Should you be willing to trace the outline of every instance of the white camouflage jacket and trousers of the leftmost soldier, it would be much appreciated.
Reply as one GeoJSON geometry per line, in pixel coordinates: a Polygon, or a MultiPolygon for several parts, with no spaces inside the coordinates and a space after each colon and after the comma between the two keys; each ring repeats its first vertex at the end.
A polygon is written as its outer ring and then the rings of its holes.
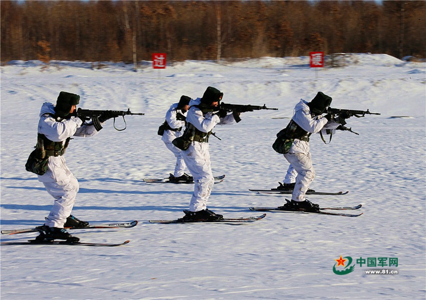
{"type": "MultiPolygon", "coordinates": [[[[55,105],[48,102],[43,104],[40,111],[38,133],[44,134],[52,141],[65,143],[65,140],[73,135],[84,137],[98,133],[93,125],[82,125],[82,120],[78,117],[57,122],[47,113],[55,114],[55,105]]],[[[63,156],[49,157],[48,171],[38,177],[39,181],[46,187],[47,192],[55,198],[45,225],[63,228],[74,207],[76,195],[79,191],[78,181],[68,169],[63,156]]]]}

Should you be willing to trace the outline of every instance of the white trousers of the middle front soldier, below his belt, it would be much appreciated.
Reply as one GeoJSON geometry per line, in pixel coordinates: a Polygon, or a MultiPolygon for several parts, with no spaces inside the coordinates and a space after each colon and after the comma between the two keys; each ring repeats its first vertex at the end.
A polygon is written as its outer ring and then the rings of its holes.
{"type": "Polygon", "coordinates": [[[194,193],[189,203],[192,212],[207,208],[208,197],[215,184],[211,171],[208,143],[193,141],[186,151],[182,151],[186,167],[194,178],[194,193]]]}

